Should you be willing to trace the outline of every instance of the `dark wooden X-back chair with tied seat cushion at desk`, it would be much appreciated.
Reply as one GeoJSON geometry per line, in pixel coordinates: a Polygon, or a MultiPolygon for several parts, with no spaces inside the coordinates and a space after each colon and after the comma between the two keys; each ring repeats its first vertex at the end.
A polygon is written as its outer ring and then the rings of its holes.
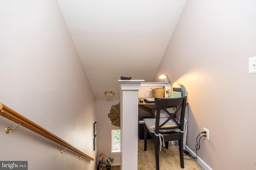
{"type": "Polygon", "coordinates": [[[186,109],[187,96],[181,98],[155,98],[157,105],[156,118],[144,119],[144,151],[147,150],[147,134],[154,139],[156,170],[159,170],[159,142],[168,149],[168,141],[179,141],[180,167],[184,168],[183,158],[183,127],[186,109]],[[170,113],[167,108],[175,107],[174,113],[170,113]],[[166,111],[170,115],[168,118],[160,118],[160,112],[166,111]],[[180,121],[176,119],[176,113],[180,113],[180,121]]]}

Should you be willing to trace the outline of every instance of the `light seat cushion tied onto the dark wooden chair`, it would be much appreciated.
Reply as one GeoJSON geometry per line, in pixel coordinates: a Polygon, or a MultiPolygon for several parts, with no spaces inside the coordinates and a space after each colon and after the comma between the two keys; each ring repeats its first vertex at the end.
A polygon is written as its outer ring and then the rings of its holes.
{"type": "MultiPolygon", "coordinates": [[[[147,126],[147,128],[148,128],[148,130],[151,132],[151,133],[154,133],[154,131],[155,131],[155,127],[156,127],[156,119],[143,119],[144,120],[144,123],[145,123],[145,125],[147,126]]],[[[164,121],[166,121],[167,120],[167,118],[163,118],[163,119],[160,119],[160,125],[162,124],[162,123],[164,123],[164,121]]],[[[171,121],[171,120],[169,120],[164,126],[162,126],[162,127],[173,127],[173,126],[176,126],[176,124],[173,122],[173,121],[171,121]]],[[[166,129],[166,130],[160,130],[159,129],[159,132],[162,132],[162,133],[166,133],[166,132],[179,132],[179,129],[177,128],[177,129],[166,129]]]]}

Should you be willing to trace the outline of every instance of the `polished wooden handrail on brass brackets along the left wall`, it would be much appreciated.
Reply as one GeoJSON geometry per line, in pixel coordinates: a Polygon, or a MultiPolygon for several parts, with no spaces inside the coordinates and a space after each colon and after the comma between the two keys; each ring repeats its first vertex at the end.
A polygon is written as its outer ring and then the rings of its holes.
{"type": "Polygon", "coordinates": [[[60,139],[56,135],[50,133],[46,129],[42,128],[41,126],[37,125],[33,121],[27,119],[26,117],[22,116],[21,114],[17,113],[16,111],[12,110],[11,108],[5,106],[4,104],[0,103],[0,115],[5,117],[6,119],[9,119],[15,123],[20,124],[23,127],[26,127],[27,129],[38,133],[39,135],[42,135],[43,137],[46,137],[47,139],[50,139],[51,141],[54,141],[55,143],[58,143],[62,145],[63,147],[72,150],[73,152],[76,152],[80,156],[83,156],[84,158],[87,158],[89,160],[94,160],[94,158],[88,156],[84,152],[81,152],[80,150],[76,149],[66,141],[60,139]]]}

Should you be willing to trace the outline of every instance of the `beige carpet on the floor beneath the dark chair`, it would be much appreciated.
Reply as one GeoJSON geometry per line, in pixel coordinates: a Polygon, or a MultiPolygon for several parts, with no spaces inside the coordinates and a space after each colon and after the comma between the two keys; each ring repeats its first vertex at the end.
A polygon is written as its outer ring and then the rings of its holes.
{"type": "MultiPolygon", "coordinates": [[[[189,158],[184,156],[184,158],[189,158]]],[[[160,170],[204,170],[196,160],[184,159],[184,169],[180,168],[179,149],[176,146],[169,146],[168,149],[162,147],[159,152],[160,170]]],[[[138,140],[138,170],[155,170],[155,149],[154,141],[148,140],[147,151],[144,151],[144,140],[138,140]]]]}

